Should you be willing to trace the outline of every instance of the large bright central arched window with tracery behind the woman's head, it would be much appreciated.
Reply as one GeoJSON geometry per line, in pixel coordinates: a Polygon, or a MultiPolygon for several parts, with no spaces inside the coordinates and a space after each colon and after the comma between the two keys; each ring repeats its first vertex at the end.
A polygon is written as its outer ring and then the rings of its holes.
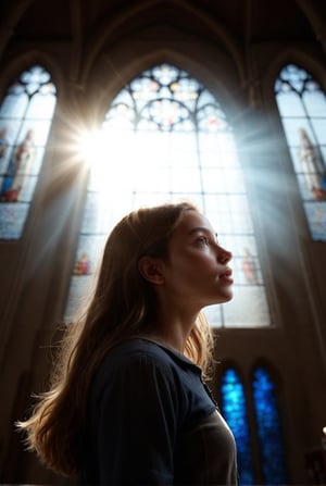
{"type": "Polygon", "coordinates": [[[241,164],[227,117],[205,87],[171,64],[113,100],[89,150],[90,179],[67,315],[88,287],[112,225],[130,210],[187,199],[234,254],[235,298],[208,308],[212,326],[266,326],[269,312],[241,164]],[[98,150],[98,149],[101,150],[98,150]]]}

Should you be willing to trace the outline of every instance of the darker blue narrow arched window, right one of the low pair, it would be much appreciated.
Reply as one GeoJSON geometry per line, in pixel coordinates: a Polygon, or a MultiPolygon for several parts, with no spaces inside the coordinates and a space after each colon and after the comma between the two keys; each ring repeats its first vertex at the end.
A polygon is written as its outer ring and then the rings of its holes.
{"type": "Polygon", "coordinates": [[[255,370],[252,387],[264,484],[288,484],[275,383],[264,367],[255,370]]]}

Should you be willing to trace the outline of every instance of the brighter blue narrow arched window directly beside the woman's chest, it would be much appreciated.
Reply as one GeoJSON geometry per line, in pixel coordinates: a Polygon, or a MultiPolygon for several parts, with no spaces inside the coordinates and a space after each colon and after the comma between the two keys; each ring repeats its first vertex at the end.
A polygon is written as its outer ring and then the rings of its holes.
{"type": "Polygon", "coordinates": [[[247,418],[244,390],[234,369],[224,372],[221,384],[222,412],[231,428],[238,449],[238,469],[241,485],[254,484],[251,441],[247,418]]]}

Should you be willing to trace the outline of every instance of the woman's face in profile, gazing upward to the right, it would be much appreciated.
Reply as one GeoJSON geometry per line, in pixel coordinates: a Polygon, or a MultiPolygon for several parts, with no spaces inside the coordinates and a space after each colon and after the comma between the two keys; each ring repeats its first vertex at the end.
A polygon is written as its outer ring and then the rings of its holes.
{"type": "Polygon", "coordinates": [[[209,220],[195,210],[184,216],[168,242],[165,288],[198,308],[233,298],[231,253],[218,245],[209,220]]]}

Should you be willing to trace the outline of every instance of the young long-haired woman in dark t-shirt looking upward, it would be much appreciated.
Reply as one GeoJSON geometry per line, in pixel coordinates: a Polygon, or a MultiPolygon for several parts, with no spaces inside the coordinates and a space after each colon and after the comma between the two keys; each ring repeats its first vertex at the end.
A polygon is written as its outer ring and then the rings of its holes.
{"type": "Polygon", "coordinates": [[[237,484],[235,440],[203,382],[200,312],[231,299],[230,259],[189,203],[114,227],[50,390],[18,423],[49,468],[92,485],[237,484]]]}

